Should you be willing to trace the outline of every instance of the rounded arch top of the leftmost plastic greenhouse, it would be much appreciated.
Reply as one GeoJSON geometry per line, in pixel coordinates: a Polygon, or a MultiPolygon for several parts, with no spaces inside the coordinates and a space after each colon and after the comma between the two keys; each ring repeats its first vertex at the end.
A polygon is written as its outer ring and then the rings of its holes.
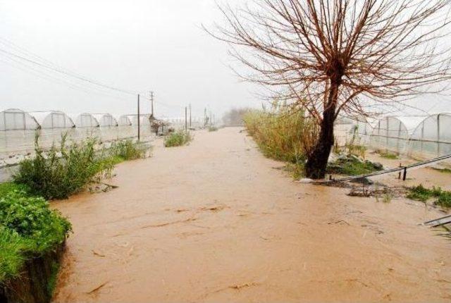
{"type": "Polygon", "coordinates": [[[0,130],[37,130],[39,123],[21,109],[6,109],[0,111],[0,130]]]}

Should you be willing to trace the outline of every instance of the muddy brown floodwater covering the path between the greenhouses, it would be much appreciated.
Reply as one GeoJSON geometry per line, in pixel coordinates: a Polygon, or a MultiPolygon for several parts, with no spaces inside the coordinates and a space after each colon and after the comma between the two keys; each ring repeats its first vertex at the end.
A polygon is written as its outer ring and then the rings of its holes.
{"type": "Polygon", "coordinates": [[[122,163],[53,206],[73,235],[54,302],[449,302],[438,211],[294,183],[240,128],[122,163]]]}

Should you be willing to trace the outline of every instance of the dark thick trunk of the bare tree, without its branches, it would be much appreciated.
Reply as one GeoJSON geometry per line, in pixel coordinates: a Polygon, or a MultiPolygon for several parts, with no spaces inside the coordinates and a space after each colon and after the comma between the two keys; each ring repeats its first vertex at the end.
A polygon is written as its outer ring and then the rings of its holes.
{"type": "Polygon", "coordinates": [[[323,111],[323,120],[319,132],[318,141],[307,158],[305,174],[307,178],[322,179],[326,175],[327,161],[330,150],[333,147],[333,126],[335,123],[335,109],[338,98],[339,85],[331,85],[328,97],[328,105],[323,111]]]}

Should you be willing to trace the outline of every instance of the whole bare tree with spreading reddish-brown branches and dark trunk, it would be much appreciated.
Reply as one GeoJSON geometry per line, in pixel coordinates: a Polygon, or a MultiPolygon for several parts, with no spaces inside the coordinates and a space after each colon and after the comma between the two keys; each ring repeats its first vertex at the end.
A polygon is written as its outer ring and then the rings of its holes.
{"type": "Polygon", "coordinates": [[[323,178],[339,113],[445,89],[450,79],[450,0],[254,0],[219,6],[211,35],[267,87],[319,124],[306,173],[323,178]],[[441,44],[439,44],[440,42],[441,44]],[[442,83],[440,83],[442,82],[442,83]]]}

